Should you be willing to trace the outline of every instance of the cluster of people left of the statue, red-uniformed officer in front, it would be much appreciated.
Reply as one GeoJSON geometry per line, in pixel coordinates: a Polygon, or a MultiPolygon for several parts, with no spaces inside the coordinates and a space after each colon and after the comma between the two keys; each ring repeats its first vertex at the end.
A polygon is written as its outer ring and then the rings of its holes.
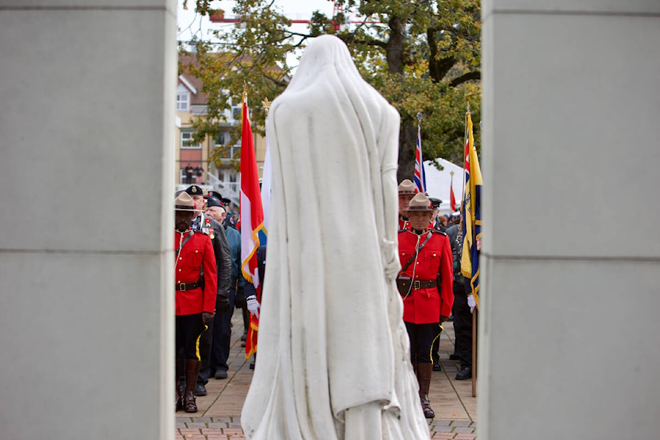
{"type": "Polygon", "coordinates": [[[175,195],[176,409],[197,412],[210,377],[226,379],[234,307],[248,332],[241,234],[217,192],[191,185],[175,195]]]}

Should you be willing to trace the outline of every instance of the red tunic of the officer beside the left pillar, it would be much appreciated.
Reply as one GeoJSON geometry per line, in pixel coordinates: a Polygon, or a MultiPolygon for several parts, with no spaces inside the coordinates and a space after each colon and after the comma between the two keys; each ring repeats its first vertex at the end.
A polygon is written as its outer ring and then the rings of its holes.
{"type": "Polygon", "coordinates": [[[176,314],[194,315],[203,311],[214,313],[217,289],[217,267],[213,245],[208,235],[195,232],[183,245],[181,252],[177,252],[179,243],[186,241],[189,232],[174,232],[174,254],[177,264],[174,268],[176,283],[195,283],[199,280],[199,268],[203,268],[204,289],[176,291],[176,314]],[[178,254],[178,255],[177,255],[178,254]]]}

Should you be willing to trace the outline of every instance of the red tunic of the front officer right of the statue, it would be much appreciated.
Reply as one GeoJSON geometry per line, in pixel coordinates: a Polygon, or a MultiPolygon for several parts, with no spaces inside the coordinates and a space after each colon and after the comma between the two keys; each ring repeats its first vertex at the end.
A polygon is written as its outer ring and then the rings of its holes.
{"type": "MultiPolygon", "coordinates": [[[[426,240],[428,229],[420,236],[410,230],[399,231],[399,261],[404,267],[415,254],[415,250],[426,240]],[[418,240],[419,238],[419,240],[418,240]]],[[[404,321],[412,324],[432,324],[440,322],[440,316],[450,316],[454,304],[454,273],[452,270],[452,248],[449,239],[442,232],[433,230],[431,239],[401,276],[409,276],[413,281],[431,281],[440,274],[440,288],[426,287],[410,289],[404,297],[404,321]],[[439,293],[439,292],[440,293],[439,293]]]]}

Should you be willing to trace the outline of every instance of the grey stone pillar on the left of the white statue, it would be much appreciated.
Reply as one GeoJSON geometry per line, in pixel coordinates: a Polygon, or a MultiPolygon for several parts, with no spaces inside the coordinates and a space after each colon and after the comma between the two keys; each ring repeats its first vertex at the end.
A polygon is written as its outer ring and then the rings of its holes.
{"type": "Polygon", "coordinates": [[[173,436],[175,8],[0,6],[0,437],[173,436]]]}

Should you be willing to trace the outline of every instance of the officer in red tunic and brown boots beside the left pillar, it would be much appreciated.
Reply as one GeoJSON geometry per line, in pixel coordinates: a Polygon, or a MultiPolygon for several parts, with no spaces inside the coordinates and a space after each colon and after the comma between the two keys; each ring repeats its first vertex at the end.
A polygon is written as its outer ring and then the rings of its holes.
{"type": "Polygon", "coordinates": [[[199,337],[206,323],[213,319],[217,296],[217,266],[208,235],[190,229],[195,217],[195,201],[181,192],[175,203],[175,281],[176,343],[175,353],[184,350],[186,388],[179,391],[177,365],[177,410],[197,412],[195,384],[199,374],[199,337]]]}

